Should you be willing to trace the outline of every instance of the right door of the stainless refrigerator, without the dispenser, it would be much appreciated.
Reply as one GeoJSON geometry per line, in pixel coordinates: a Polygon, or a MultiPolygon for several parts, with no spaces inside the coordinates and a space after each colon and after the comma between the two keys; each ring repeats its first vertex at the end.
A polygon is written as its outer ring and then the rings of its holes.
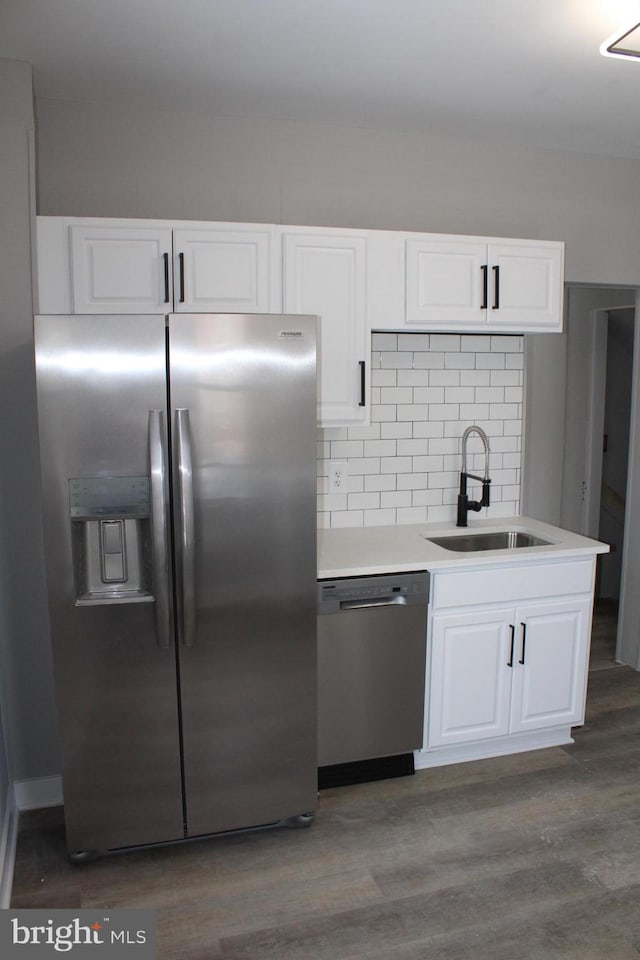
{"type": "Polygon", "coordinates": [[[317,804],[315,317],[172,315],[190,836],[317,804]]]}

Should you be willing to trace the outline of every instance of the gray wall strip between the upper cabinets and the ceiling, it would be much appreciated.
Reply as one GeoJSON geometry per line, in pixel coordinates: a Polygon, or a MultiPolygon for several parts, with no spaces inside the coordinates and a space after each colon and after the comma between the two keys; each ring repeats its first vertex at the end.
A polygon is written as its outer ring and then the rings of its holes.
{"type": "Polygon", "coordinates": [[[640,282],[640,163],[439,136],[37,102],[38,212],[567,242],[573,282],[640,282]]]}

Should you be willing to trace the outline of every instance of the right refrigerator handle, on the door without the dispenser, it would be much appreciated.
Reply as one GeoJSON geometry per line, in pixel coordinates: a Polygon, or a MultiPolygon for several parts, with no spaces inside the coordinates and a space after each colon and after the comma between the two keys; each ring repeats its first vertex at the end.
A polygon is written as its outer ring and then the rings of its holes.
{"type": "Polygon", "coordinates": [[[195,515],[189,410],[176,410],[176,446],[180,510],[182,627],[180,641],[192,647],[196,636],[195,515]]]}

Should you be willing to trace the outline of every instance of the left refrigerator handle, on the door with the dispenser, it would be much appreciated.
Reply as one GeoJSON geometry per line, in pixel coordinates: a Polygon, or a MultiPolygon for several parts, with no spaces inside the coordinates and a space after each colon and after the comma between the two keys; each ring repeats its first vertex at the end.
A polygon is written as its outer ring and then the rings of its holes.
{"type": "Polygon", "coordinates": [[[151,473],[151,542],[156,598],[156,637],[164,650],[171,646],[169,602],[169,544],[167,536],[167,457],[164,413],[149,411],[149,467],[151,473]]]}

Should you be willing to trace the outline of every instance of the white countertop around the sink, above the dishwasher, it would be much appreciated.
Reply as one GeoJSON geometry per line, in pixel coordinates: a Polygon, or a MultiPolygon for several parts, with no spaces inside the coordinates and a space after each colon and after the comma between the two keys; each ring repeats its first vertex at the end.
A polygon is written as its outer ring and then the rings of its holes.
{"type": "Polygon", "coordinates": [[[348,527],[318,530],[318,579],[358,577],[407,570],[448,570],[531,560],[560,560],[608,553],[609,545],[529,517],[473,520],[466,529],[455,524],[406,524],[395,527],[348,527]],[[515,550],[455,553],[430,543],[429,537],[522,530],[549,543],[515,550]]]}

